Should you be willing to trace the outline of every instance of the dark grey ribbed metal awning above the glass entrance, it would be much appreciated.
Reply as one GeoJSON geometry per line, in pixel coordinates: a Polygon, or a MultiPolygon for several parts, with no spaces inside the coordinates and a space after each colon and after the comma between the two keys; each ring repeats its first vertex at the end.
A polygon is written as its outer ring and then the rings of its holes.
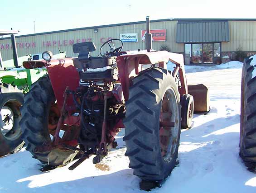
{"type": "Polygon", "coordinates": [[[228,21],[178,22],[176,42],[229,42],[228,21]]]}

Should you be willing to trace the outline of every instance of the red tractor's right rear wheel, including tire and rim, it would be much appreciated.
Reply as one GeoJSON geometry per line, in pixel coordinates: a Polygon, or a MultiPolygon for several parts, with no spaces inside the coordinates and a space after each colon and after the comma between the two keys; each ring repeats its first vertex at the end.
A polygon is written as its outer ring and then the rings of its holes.
{"type": "Polygon", "coordinates": [[[144,181],[162,181],[174,169],[181,128],[179,91],[165,69],[150,68],[135,77],[124,119],[126,156],[144,181]]]}

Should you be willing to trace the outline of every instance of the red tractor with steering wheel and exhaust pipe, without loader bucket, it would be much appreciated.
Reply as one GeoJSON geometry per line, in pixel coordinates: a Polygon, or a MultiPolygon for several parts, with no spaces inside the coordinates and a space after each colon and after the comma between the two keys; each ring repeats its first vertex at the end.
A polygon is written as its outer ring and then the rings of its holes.
{"type": "Polygon", "coordinates": [[[55,60],[47,51],[44,60],[23,63],[27,69],[48,70],[25,95],[21,109],[22,137],[34,158],[58,166],[80,152],[69,169],[90,155],[97,164],[117,146],[115,136],[125,128],[125,155],[134,174],[146,181],[168,177],[176,164],[180,129],[191,127],[193,96],[183,55],[153,51],[149,26],[147,17],[145,51],[122,52],[123,42],[111,39],[98,57],[90,56],[96,50],[93,42],[82,42],[73,45],[78,57],[55,60]],[[168,61],[176,65],[174,71],[166,69],[168,61]]]}

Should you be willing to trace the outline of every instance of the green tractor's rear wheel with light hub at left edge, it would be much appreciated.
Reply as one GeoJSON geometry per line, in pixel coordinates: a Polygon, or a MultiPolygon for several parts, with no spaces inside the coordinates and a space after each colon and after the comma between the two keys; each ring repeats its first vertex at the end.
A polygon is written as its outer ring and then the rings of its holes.
{"type": "Polygon", "coordinates": [[[22,90],[10,84],[0,84],[0,156],[22,146],[19,108],[23,101],[22,90]]]}

